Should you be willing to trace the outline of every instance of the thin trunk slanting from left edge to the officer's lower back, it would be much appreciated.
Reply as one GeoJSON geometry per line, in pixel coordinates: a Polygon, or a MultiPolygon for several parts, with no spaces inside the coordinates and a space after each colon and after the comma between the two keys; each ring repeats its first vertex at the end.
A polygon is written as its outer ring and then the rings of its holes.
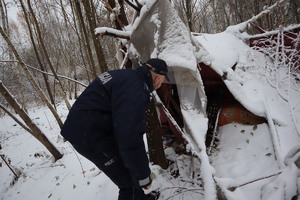
{"type": "Polygon", "coordinates": [[[31,82],[32,86],[37,91],[37,93],[39,94],[39,96],[41,97],[41,99],[46,103],[46,105],[48,106],[48,108],[51,110],[51,112],[54,115],[54,117],[55,117],[57,123],[59,124],[59,126],[62,127],[63,123],[62,123],[61,119],[59,118],[56,110],[54,109],[54,107],[52,106],[52,104],[49,102],[49,100],[47,99],[46,95],[44,94],[44,92],[42,91],[42,89],[39,87],[38,83],[35,81],[33,75],[30,73],[30,71],[27,68],[26,64],[24,63],[24,61],[22,60],[22,58],[18,54],[16,48],[14,47],[14,45],[12,44],[12,42],[10,41],[10,39],[7,37],[7,35],[4,33],[4,31],[3,31],[3,29],[1,27],[0,27],[0,33],[1,33],[2,37],[4,38],[4,40],[6,41],[6,43],[8,44],[8,47],[12,50],[12,52],[15,55],[15,57],[20,62],[20,66],[23,68],[23,70],[24,70],[25,74],[27,75],[27,78],[31,82]]]}

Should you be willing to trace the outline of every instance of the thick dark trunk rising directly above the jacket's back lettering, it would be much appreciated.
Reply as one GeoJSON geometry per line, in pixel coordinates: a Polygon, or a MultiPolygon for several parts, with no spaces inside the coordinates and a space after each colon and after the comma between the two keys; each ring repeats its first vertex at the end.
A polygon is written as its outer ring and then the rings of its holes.
{"type": "Polygon", "coordinates": [[[107,68],[107,63],[106,63],[106,60],[105,60],[105,57],[103,54],[102,46],[100,45],[100,41],[95,34],[95,28],[97,28],[96,15],[94,13],[94,9],[91,7],[92,4],[90,4],[89,0],[82,1],[82,3],[83,3],[83,7],[85,10],[86,16],[87,16],[90,33],[92,35],[93,44],[94,44],[95,51],[97,54],[99,69],[100,69],[100,72],[103,73],[103,72],[107,71],[108,68],[107,68]]]}

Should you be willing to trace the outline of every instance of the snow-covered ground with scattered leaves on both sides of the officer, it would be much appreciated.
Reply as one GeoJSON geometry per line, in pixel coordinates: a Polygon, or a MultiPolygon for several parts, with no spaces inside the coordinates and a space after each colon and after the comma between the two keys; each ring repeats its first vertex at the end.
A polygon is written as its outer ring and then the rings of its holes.
{"type": "MultiPolygon", "coordinates": [[[[62,119],[68,113],[63,105],[58,106],[58,112],[62,119]]],[[[117,199],[117,187],[93,163],[76,153],[67,142],[63,142],[58,125],[49,110],[39,107],[29,113],[64,156],[54,162],[50,153],[34,137],[16,125],[11,118],[1,118],[0,154],[10,161],[15,172],[21,172],[20,178],[14,181],[13,173],[1,161],[1,200],[117,199]]],[[[290,188],[290,184],[296,187],[293,181],[298,169],[291,165],[279,170],[266,124],[228,124],[220,127],[218,135],[220,143],[210,158],[216,171],[215,179],[221,186],[236,187],[281,172],[236,188],[234,192],[227,190],[227,197],[231,197],[229,199],[278,199],[279,194],[284,195],[277,191],[280,184],[287,184],[286,188],[290,188]],[[267,183],[274,185],[270,188],[267,183]],[[264,195],[262,198],[261,194],[264,195]],[[277,198],[272,198],[274,194],[277,198]]],[[[167,170],[151,166],[156,174],[151,189],[162,192],[160,200],[204,199],[197,159],[188,155],[175,155],[170,148],[166,152],[174,164],[167,170]]],[[[293,192],[289,194],[292,195],[293,192]]]]}

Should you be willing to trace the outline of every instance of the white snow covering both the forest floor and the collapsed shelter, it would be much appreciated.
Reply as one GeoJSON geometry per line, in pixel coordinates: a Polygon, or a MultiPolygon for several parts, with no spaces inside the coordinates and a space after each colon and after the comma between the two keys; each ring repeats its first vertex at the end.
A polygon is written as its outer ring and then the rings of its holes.
{"type": "MultiPolygon", "coordinates": [[[[155,1],[141,2],[144,5],[143,16],[155,1]]],[[[172,10],[167,10],[165,14],[174,16],[172,10]]],[[[159,37],[165,37],[165,40],[150,53],[151,56],[159,53],[159,57],[173,67],[185,120],[184,131],[192,133],[189,137],[194,142],[189,145],[193,145],[190,149],[196,149],[196,158],[175,155],[174,151],[166,149],[167,157],[174,163],[167,170],[150,165],[156,174],[151,190],[161,191],[160,200],[212,200],[216,199],[216,182],[232,200],[290,200],[300,191],[300,173],[294,164],[300,143],[299,89],[274,88],[270,84],[273,77],[264,71],[264,67],[272,66],[272,62],[245,44],[245,34],[239,33],[244,24],[229,27],[223,33],[191,37],[178,18],[171,19],[173,21],[169,24],[176,26],[164,27],[167,30],[164,36],[156,33],[155,44],[158,44],[159,37]],[[202,80],[196,70],[197,62],[210,65],[223,76],[234,97],[249,111],[265,117],[269,123],[220,127],[219,145],[209,157],[204,144],[207,130],[207,118],[203,113],[205,94],[202,93],[202,80]],[[234,65],[235,69],[232,68],[234,65]],[[197,156],[201,158],[201,163],[197,156]]],[[[123,32],[107,28],[97,31],[109,30],[131,36],[140,20],[137,19],[123,32]]],[[[158,15],[153,16],[152,22],[157,27],[161,26],[158,15]]],[[[133,47],[129,49],[135,51],[133,47]]],[[[139,52],[133,54],[138,55],[139,52]]],[[[281,70],[278,73],[287,72],[281,70]]],[[[299,83],[296,86],[299,88],[299,83]]],[[[65,119],[68,113],[66,107],[62,104],[57,108],[61,118],[65,119]]],[[[93,163],[63,142],[59,127],[46,108],[32,108],[29,114],[64,156],[54,162],[34,137],[9,117],[2,117],[0,154],[11,160],[10,165],[15,171],[19,170],[21,176],[12,184],[13,173],[0,161],[1,200],[117,199],[117,187],[93,163]]]]}

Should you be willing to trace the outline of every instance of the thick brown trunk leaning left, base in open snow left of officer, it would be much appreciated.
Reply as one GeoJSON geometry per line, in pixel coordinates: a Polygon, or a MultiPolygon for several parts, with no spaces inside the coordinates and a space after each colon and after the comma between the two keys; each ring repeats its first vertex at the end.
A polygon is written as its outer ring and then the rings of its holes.
{"type": "Polygon", "coordinates": [[[28,114],[21,108],[20,104],[13,98],[7,88],[0,81],[0,93],[4,96],[6,101],[13,107],[16,113],[23,119],[26,125],[31,129],[30,132],[36,139],[38,139],[53,155],[55,160],[62,158],[62,154],[56,149],[56,147],[48,140],[44,133],[36,126],[36,124],[30,119],[28,114]]]}

